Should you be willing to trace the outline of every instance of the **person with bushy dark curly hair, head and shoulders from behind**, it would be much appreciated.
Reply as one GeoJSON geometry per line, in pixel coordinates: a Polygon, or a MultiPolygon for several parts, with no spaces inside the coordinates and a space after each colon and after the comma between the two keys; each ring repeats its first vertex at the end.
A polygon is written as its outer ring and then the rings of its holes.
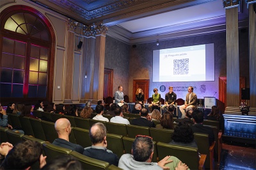
{"type": "Polygon", "coordinates": [[[194,140],[194,134],[191,127],[184,122],[180,122],[175,128],[172,135],[172,141],[169,144],[178,144],[197,148],[194,140]]]}

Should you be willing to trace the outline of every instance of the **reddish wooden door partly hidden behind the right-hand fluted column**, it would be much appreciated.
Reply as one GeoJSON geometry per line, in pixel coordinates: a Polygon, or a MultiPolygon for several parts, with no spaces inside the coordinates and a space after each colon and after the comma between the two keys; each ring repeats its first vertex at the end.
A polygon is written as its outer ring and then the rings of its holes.
{"type": "MultiPolygon", "coordinates": [[[[241,103],[241,88],[245,88],[245,77],[239,78],[239,104],[241,103]]],[[[219,99],[227,107],[227,77],[219,77],[219,99]]]]}

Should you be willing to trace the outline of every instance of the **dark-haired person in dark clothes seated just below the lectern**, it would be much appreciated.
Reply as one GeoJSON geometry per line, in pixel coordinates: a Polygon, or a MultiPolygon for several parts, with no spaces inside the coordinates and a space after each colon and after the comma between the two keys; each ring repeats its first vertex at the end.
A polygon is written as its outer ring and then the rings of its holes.
{"type": "Polygon", "coordinates": [[[224,117],[220,112],[220,108],[216,105],[212,105],[212,111],[207,115],[207,120],[219,121],[220,130],[224,132],[224,117]]]}

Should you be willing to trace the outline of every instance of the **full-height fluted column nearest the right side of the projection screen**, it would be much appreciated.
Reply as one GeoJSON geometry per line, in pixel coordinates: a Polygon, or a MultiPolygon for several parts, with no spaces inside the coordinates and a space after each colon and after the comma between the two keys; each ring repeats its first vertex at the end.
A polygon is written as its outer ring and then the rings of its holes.
{"type": "Polygon", "coordinates": [[[239,1],[223,0],[226,13],[227,49],[227,107],[239,106],[239,45],[238,6],[239,1]]]}

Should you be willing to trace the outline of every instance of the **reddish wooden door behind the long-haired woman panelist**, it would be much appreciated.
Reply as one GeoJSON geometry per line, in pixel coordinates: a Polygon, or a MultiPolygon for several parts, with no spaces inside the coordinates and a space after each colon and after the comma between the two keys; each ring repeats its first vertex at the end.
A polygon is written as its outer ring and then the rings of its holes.
{"type": "Polygon", "coordinates": [[[144,99],[147,100],[147,98],[148,98],[148,89],[149,89],[149,79],[133,80],[132,102],[135,102],[135,94],[136,94],[136,90],[138,88],[141,88],[143,90],[144,99]]]}

